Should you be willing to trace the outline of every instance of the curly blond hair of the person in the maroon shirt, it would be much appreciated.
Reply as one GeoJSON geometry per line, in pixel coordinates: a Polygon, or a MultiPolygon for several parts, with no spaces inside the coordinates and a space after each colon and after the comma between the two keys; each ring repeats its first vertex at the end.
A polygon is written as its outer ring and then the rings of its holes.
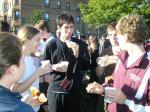
{"type": "Polygon", "coordinates": [[[138,14],[122,17],[116,29],[119,34],[128,34],[128,39],[132,43],[143,43],[148,37],[148,27],[144,18],[138,14]]]}

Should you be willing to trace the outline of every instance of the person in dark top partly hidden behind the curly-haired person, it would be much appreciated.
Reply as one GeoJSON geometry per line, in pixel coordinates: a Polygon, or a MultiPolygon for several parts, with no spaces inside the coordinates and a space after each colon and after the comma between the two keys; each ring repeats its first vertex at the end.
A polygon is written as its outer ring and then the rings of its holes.
{"type": "MultiPolygon", "coordinates": [[[[113,54],[113,47],[118,46],[117,41],[117,31],[116,31],[116,22],[113,22],[107,27],[107,40],[110,45],[107,48],[103,48],[99,58],[97,58],[98,66],[96,67],[96,74],[99,77],[99,83],[103,84],[112,82],[112,74],[115,69],[115,65],[117,62],[117,57],[113,54]],[[103,63],[99,63],[99,62],[103,63]]],[[[104,97],[100,96],[100,105],[104,104],[104,97]],[[103,99],[103,101],[102,101],[103,99]]],[[[107,107],[107,103],[105,102],[107,107]]],[[[101,109],[101,106],[99,106],[101,109]]],[[[99,110],[100,110],[99,109],[99,110]]],[[[101,112],[101,111],[99,111],[101,112]]]]}

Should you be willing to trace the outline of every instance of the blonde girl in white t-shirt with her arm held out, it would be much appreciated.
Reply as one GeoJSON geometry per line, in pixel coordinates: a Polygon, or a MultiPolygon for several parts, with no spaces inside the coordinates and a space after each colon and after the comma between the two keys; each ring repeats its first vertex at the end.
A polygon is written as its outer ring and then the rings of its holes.
{"type": "MultiPolygon", "coordinates": [[[[34,65],[33,57],[31,56],[37,50],[41,34],[32,26],[23,26],[18,32],[18,38],[22,42],[22,53],[25,56],[25,72],[18,84],[15,84],[13,91],[22,93],[23,101],[30,95],[29,88],[31,86],[39,89],[39,77],[51,71],[50,64],[39,67],[34,65]]],[[[36,102],[35,105],[40,105],[36,102]]],[[[35,112],[39,110],[39,106],[34,107],[35,112]]]]}

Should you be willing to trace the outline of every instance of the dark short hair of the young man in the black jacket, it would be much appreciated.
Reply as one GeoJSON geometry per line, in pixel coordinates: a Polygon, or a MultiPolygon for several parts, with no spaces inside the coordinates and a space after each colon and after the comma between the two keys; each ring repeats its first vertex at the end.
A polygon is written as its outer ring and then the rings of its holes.
{"type": "Polygon", "coordinates": [[[72,24],[74,24],[73,16],[72,15],[68,15],[68,14],[60,15],[58,17],[58,19],[57,19],[57,25],[59,25],[61,27],[65,23],[72,23],[72,24]]]}

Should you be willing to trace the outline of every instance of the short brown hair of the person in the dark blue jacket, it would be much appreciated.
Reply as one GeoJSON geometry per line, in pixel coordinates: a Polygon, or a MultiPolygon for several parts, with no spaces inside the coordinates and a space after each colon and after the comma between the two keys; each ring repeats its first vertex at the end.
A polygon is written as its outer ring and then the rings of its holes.
{"type": "Polygon", "coordinates": [[[0,78],[11,65],[19,66],[21,49],[21,42],[15,35],[0,33],[0,78]]]}

